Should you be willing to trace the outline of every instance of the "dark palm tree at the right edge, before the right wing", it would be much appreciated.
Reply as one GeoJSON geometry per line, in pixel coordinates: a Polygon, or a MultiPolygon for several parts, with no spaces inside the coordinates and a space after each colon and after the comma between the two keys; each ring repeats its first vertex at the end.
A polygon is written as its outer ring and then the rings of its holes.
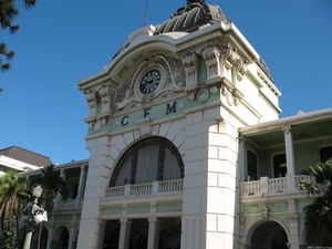
{"type": "Polygon", "coordinates": [[[319,246],[332,246],[332,159],[309,166],[302,170],[311,180],[300,180],[302,193],[313,197],[313,201],[303,208],[304,225],[309,231],[320,236],[319,246]]]}

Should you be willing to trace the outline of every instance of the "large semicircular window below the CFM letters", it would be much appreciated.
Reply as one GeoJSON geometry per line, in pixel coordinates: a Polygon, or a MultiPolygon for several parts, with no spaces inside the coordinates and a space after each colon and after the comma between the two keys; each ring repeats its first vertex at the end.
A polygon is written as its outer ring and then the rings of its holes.
{"type": "Polygon", "coordinates": [[[110,187],[184,178],[184,163],[173,143],[162,137],[143,139],[120,159],[110,187]]]}

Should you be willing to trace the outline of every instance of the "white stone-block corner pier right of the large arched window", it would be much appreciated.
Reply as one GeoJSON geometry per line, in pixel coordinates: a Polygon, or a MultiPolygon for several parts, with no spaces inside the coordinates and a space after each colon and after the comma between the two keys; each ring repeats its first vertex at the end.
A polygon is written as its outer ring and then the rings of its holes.
{"type": "Polygon", "coordinates": [[[226,121],[216,121],[217,116],[219,107],[187,116],[181,236],[185,249],[234,245],[237,129],[226,121]],[[220,205],[217,196],[227,199],[227,205],[220,205]]]}

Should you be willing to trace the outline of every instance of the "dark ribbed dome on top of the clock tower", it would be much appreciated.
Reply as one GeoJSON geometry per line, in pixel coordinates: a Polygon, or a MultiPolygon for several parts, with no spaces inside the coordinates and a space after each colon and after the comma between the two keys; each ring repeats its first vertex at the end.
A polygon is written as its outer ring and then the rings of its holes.
{"type": "Polygon", "coordinates": [[[215,22],[230,23],[218,6],[207,4],[205,0],[187,0],[187,7],[179,8],[169,20],[156,25],[154,34],[167,32],[194,32],[199,27],[215,22]]]}

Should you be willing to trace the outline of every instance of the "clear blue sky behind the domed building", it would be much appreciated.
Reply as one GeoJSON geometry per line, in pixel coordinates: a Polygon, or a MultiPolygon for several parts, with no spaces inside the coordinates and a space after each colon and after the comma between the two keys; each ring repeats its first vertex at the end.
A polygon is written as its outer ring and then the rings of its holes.
{"type": "MultiPolygon", "coordinates": [[[[144,24],[145,0],[40,0],[22,8],[21,30],[0,41],[15,50],[0,74],[0,148],[17,145],[53,163],[89,157],[85,96],[77,81],[101,71],[144,24]]],[[[282,92],[280,117],[332,106],[331,0],[209,0],[219,6],[268,64],[282,92]]],[[[186,0],[148,0],[147,23],[186,0]]]]}

